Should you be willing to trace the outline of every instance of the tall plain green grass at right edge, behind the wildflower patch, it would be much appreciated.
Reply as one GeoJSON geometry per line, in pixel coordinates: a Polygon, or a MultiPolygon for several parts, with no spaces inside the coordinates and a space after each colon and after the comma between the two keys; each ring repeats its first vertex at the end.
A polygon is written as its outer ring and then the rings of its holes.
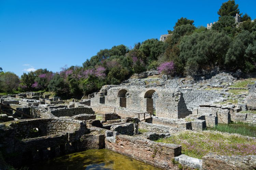
{"type": "Polygon", "coordinates": [[[244,136],[256,137],[256,127],[243,122],[232,122],[230,124],[218,123],[214,128],[207,128],[207,130],[237,133],[244,136]]]}

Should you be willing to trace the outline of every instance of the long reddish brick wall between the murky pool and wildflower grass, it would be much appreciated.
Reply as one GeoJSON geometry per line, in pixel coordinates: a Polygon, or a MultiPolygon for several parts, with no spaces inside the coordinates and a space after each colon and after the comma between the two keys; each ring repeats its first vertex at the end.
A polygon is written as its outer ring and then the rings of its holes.
{"type": "MultiPolygon", "coordinates": [[[[171,160],[181,154],[181,146],[157,143],[126,135],[115,136],[114,142],[105,139],[105,148],[162,169],[178,170],[171,160]]],[[[110,139],[111,140],[111,139],[110,139]]]]}

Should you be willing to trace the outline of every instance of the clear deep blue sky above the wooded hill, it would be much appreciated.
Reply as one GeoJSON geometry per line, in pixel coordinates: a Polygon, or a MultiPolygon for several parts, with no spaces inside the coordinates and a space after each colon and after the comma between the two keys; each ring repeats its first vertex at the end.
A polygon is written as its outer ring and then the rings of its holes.
{"type": "MultiPolygon", "coordinates": [[[[20,76],[39,68],[81,66],[100,49],[159,38],[181,17],[206,26],[218,20],[226,1],[0,0],[0,67],[20,76]]],[[[236,3],[256,18],[255,0],[236,3]]]]}

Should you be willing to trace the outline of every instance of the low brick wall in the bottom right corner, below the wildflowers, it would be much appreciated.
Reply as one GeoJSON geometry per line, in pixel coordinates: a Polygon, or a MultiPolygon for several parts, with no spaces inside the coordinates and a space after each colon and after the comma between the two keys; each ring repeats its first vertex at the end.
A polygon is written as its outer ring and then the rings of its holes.
{"type": "Polygon", "coordinates": [[[202,168],[205,170],[243,170],[256,168],[256,155],[248,156],[220,156],[207,155],[202,157],[202,168]]]}

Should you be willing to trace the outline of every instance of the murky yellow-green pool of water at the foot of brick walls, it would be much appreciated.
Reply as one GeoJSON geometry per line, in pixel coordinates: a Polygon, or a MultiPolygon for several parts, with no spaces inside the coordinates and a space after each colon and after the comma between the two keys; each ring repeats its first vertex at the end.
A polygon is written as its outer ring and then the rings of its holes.
{"type": "Polygon", "coordinates": [[[155,170],[121,154],[101,149],[64,155],[29,166],[29,170],[155,170]]]}

